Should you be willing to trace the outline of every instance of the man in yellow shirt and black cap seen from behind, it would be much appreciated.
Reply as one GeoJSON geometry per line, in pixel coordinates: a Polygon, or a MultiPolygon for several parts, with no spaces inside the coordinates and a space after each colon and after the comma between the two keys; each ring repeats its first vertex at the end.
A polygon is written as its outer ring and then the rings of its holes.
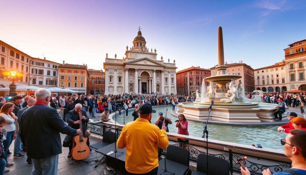
{"type": "Polygon", "coordinates": [[[162,149],[168,147],[167,127],[163,124],[160,130],[151,124],[152,112],[156,111],[150,104],[140,105],[139,118],[122,128],[117,146],[121,149],[126,147],[125,169],[128,174],[157,175],[157,146],[162,149]]]}

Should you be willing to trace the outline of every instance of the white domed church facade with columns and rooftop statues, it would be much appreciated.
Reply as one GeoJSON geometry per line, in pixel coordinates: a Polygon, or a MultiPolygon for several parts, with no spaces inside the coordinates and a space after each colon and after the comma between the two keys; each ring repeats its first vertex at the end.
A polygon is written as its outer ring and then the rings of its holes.
{"type": "Polygon", "coordinates": [[[105,63],[105,94],[158,93],[176,94],[175,60],[157,59],[156,49],[149,50],[139,29],[133,46],[126,46],[125,58],[108,58],[105,63]]]}

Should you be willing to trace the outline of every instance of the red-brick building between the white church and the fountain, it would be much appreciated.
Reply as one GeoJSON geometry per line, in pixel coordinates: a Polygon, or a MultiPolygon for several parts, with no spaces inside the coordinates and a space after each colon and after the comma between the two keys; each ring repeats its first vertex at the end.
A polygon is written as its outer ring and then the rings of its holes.
{"type": "MultiPolygon", "coordinates": [[[[192,94],[201,89],[203,78],[211,76],[211,70],[198,67],[189,67],[176,73],[177,93],[192,94]]],[[[209,82],[205,81],[206,86],[209,82]]]]}

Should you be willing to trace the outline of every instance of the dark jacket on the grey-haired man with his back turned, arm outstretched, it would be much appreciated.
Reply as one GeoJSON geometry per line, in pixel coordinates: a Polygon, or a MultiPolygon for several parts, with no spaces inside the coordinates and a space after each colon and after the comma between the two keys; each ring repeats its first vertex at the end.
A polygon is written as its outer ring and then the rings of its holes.
{"type": "Polygon", "coordinates": [[[27,156],[43,159],[62,153],[62,134],[76,135],[54,108],[35,104],[21,115],[20,138],[27,147],[27,156]]]}

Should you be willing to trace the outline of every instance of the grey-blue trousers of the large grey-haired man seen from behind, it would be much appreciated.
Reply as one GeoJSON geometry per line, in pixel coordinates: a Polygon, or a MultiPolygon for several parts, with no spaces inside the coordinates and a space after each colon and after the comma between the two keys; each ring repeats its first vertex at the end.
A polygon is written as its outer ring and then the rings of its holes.
{"type": "Polygon", "coordinates": [[[42,159],[32,159],[32,175],[54,175],[58,170],[58,154],[42,159]]]}

